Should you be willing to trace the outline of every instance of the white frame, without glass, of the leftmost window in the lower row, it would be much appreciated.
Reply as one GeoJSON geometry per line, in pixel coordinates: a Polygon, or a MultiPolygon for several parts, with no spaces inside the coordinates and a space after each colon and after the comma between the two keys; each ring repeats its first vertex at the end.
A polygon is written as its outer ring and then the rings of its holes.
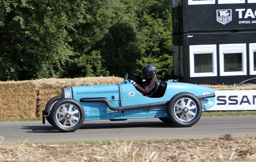
{"type": "Polygon", "coordinates": [[[205,77],[217,76],[217,45],[190,45],[189,46],[189,68],[190,77],[205,77]],[[212,72],[210,73],[195,73],[195,54],[212,53],[212,72]]]}

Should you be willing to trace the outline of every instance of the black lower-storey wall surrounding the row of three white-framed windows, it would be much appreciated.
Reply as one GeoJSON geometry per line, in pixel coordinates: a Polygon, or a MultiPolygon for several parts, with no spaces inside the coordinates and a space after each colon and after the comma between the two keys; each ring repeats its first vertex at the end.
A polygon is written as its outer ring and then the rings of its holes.
{"type": "MultiPolygon", "coordinates": [[[[249,43],[256,43],[256,32],[239,32],[239,33],[211,33],[211,34],[189,34],[183,35],[184,43],[184,82],[193,84],[239,84],[244,80],[256,78],[256,75],[250,75],[249,70],[249,43]],[[187,37],[193,36],[193,37],[187,37]],[[247,51],[247,75],[240,76],[220,76],[219,66],[219,45],[220,44],[237,44],[246,43],[247,51]],[[189,77],[189,45],[217,45],[217,76],[211,77],[189,77]]],[[[256,79],[251,82],[255,82],[256,79]]]]}

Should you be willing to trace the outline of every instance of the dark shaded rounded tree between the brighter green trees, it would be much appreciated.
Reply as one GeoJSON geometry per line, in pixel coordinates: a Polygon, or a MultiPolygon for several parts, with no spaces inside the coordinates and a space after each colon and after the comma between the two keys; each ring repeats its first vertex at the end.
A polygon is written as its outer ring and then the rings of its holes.
{"type": "Polygon", "coordinates": [[[123,76],[133,74],[136,70],[137,51],[136,34],[127,23],[114,24],[105,37],[96,45],[100,48],[102,65],[111,75],[123,76]]]}

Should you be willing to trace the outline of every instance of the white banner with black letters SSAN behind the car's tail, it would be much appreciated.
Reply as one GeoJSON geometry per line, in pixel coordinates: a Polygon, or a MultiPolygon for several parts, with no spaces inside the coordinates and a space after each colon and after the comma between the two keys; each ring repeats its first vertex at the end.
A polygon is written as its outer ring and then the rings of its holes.
{"type": "Polygon", "coordinates": [[[256,110],[256,90],[216,90],[215,95],[215,105],[209,111],[256,110]]]}

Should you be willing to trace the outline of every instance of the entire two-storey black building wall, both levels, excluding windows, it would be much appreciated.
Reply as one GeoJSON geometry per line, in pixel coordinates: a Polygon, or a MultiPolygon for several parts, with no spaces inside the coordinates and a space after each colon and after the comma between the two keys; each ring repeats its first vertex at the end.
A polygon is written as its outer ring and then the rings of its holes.
{"type": "Polygon", "coordinates": [[[173,44],[183,49],[183,77],[176,75],[175,79],[214,85],[238,84],[256,77],[249,73],[249,43],[256,43],[256,3],[218,4],[216,0],[216,4],[188,5],[188,0],[183,0],[181,4],[172,10],[173,44]],[[237,43],[246,43],[247,75],[220,76],[219,44],[237,43]],[[190,77],[189,45],[206,44],[217,45],[217,76],[190,77]]]}

